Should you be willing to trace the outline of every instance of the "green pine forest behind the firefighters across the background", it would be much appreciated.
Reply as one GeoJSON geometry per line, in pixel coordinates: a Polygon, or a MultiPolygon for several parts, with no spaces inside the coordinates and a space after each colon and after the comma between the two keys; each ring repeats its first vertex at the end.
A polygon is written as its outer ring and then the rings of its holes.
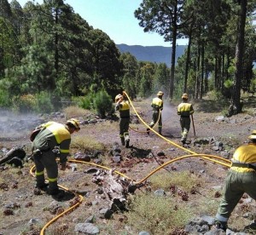
{"type": "Polygon", "coordinates": [[[122,90],[131,99],[163,90],[171,100],[183,92],[194,99],[211,92],[238,106],[241,89],[256,86],[255,9],[253,0],[142,1],[135,17],[144,32],[172,42],[169,68],[121,54],[65,1],[28,1],[21,8],[16,0],[2,0],[0,106],[51,112],[72,100],[104,114],[122,90]],[[189,44],[175,66],[180,37],[189,44]]]}

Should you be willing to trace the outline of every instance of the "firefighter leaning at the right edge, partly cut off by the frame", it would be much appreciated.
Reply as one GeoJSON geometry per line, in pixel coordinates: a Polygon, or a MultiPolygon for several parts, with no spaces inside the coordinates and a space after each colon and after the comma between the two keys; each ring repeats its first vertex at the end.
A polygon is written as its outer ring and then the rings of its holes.
{"type": "MultiPolygon", "coordinates": [[[[224,231],[230,214],[244,193],[256,200],[256,130],[253,130],[248,139],[249,143],[239,146],[234,152],[232,165],[225,179],[224,196],[215,218],[215,226],[224,231]]],[[[246,226],[245,231],[256,232],[256,221],[246,226]]]]}

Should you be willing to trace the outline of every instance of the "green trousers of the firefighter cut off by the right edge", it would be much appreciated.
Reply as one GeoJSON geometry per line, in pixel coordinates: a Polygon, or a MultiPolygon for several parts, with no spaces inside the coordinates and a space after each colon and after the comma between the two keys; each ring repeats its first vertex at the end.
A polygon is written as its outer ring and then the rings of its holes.
{"type": "Polygon", "coordinates": [[[224,198],[218,206],[217,221],[229,220],[244,192],[256,200],[256,172],[236,172],[230,169],[224,183],[224,198]]]}

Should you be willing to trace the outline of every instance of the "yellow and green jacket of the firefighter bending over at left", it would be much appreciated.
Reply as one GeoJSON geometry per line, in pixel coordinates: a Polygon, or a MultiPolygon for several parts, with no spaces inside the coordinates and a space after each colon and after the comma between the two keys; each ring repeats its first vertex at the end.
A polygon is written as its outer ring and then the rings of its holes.
{"type": "Polygon", "coordinates": [[[51,151],[55,146],[60,148],[60,162],[67,162],[71,135],[66,125],[55,122],[48,122],[41,125],[44,129],[38,133],[32,142],[34,149],[42,152],[51,151]]]}

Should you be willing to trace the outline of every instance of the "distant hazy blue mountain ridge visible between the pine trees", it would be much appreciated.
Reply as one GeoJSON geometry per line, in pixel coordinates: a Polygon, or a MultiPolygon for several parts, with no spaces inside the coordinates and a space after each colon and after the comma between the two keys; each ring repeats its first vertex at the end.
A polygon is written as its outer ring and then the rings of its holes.
{"type": "MultiPolygon", "coordinates": [[[[126,44],[117,44],[117,48],[121,53],[130,52],[140,61],[150,61],[156,63],[166,63],[168,67],[171,66],[171,54],[172,47],[161,47],[161,46],[148,46],[143,47],[139,45],[129,46],[126,44]]],[[[176,62],[177,58],[180,57],[187,46],[177,46],[176,50],[176,62]]]]}

